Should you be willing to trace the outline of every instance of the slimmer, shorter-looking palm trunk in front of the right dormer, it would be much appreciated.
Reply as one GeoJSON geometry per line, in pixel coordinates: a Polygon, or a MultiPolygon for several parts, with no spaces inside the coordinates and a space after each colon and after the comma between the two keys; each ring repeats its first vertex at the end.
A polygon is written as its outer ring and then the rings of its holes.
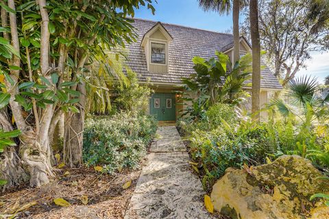
{"type": "Polygon", "coordinates": [[[239,34],[240,0],[233,0],[233,37],[234,37],[234,63],[240,59],[240,34],[239,34]]]}

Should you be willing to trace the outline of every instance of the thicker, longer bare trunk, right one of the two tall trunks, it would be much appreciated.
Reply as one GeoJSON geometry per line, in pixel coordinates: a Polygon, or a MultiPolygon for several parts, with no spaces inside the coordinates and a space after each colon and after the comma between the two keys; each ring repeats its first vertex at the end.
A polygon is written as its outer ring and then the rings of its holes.
{"type": "Polygon", "coordinates": [[[260,37],[258,29],[258,0],[249,2],[250,35],[252,38],[252,114],[259,120],[260,112],[260,37]]]}

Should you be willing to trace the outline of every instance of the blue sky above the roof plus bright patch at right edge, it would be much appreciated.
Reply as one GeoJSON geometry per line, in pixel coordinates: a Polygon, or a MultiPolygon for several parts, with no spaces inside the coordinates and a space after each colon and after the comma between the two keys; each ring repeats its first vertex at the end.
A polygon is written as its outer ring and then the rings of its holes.
{"type": "MultiPolygon", "coordinates": [[[[158,3],[153,4],[156,8],[155,15],[151,13],[151,10],[142,7],[136,10],[135,17],[219,32],[232,29],[232,14],[219,15],[215,12],[204,12],[199,8],[197,0],[157,1],[158,3]]],[[[242,21],[243,16],[241,16],[242,21]]],[[[306,62],[307,69],[300,70],[296,76],[312,75],[323,83],[324,78],[329,75],[329,53],[315,52],[311,56],[312,59],[306,62]]]]}

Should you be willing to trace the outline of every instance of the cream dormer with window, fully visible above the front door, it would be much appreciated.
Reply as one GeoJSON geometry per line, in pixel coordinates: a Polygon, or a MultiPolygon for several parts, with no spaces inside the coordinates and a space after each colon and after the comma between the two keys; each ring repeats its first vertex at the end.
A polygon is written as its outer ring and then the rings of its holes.
{"type": "Polygon", "coordinates": [[[168,73],[168,48],[173,40],[167,29],[158,22],[143,36],[147,70],[150,73],[168,73]]]}

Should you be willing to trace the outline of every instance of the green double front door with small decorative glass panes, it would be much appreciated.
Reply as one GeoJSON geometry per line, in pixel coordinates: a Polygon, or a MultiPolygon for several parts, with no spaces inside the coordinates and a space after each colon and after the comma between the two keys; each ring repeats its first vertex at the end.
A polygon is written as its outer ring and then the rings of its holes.
{"type": "Polygon", "coordinates": [[[152,94],[149,112],[151,115],[156,116],[159,121],[175,121],[175,94],[152,94]]]}

